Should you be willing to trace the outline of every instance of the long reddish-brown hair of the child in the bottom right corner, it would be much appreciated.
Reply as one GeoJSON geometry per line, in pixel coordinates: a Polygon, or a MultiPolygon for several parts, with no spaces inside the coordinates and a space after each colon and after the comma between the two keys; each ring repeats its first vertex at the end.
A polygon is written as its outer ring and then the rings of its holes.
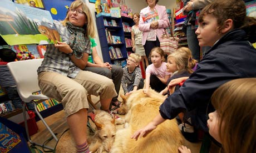
{"type": "Polygon", "coordinates": [[[256,150],[256,78],[235,79],[221,85],[211,96],[219,120],[225,152],[256,150]]]}

